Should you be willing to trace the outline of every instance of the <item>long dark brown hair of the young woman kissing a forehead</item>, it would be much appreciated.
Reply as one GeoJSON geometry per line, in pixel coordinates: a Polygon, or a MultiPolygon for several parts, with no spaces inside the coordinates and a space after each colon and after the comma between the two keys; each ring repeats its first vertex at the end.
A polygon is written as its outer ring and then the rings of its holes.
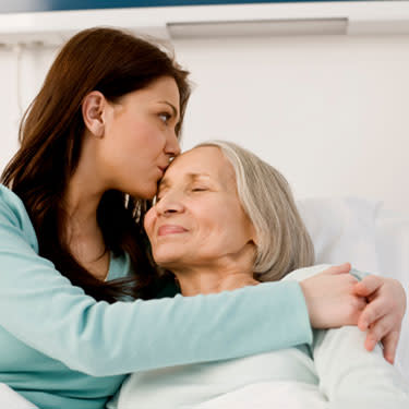
{"type": "Polygon", "coordinates": [[[113,302],[124,294],[149,298],[155,275],[142,227],[149,203],[123,192],[108,191],[103,195],[97,219],[107,249],[115,255],[130,255],[134,277],[103,282],[82,267],[69,250],[63,234],[67,216],[62,199],[80,159],[85,131],[83,98],[99,91],[115,103],[159,77],[171,76],[180,93],[180,134],[190,96],[188,74],[151,41],[115,28],[85,29],[63,46],[23,117],[21,147],[4,169],[1,182],[26,206],[39,254],[97,300],[113,302]]]}

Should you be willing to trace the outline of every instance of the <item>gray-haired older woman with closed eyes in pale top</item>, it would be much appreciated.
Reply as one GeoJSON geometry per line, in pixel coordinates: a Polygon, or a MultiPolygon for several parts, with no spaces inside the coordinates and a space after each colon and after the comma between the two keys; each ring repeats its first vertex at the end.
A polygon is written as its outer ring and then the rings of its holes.
{"type": "MultiPolygon", "coordinates": [[[[301,268],[313,264],[313,245],[285,178],[227,142],[202,144],[175,159],[145,229],[156,263],[172,272],[185,297],[285,276],[301,280],[325,268],[301,268]]],[[[358,281],[341,278],[340,286],[358,281]]],[[[407,408],[405,382],[378,347],[364,350],[363,339],[357,327],[341,327],[316,332],[312,345],[298,348],[135,373],[118,408],[326,408],[328,400],[407,408]]]]}

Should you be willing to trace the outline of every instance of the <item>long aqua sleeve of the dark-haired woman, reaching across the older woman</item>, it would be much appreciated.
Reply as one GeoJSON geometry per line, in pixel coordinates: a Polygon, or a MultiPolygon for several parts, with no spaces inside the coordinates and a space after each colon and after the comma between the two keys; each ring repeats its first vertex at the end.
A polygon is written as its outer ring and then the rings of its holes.
{"type": "Polygon", "coordinates": [[[24,206],[0,189],[0,325],[72,370],[109,376],[312,341],[296,281],[108,304],[37,252],[24,206]]]}

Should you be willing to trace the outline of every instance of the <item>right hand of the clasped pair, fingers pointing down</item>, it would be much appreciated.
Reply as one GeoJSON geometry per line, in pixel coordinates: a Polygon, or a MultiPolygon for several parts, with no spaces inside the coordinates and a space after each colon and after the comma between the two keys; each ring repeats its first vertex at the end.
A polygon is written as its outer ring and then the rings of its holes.
{"type": "Polygon", "coordinates": [[[385,359],[394,363],[407,305],[404,287],[396,279],[370,275],[354,285],[353,292],[368,300],[358,320],[358,327],[368,332],[365,348],[372,351],[381,340],[385,359]]]}

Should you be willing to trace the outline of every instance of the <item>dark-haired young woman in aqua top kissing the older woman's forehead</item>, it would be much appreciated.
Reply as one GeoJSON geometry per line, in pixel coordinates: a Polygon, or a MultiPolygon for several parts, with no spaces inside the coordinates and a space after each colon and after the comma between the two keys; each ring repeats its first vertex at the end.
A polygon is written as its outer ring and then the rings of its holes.
{"type": "MultiPolygon", "coordinates": [[[[311,326],[361,313],[363,297],[333,277],[346,266],[301,285],[143,301],[176,293],[155,274],[142,220],[180,151],[187,76],[153,44],[87,29],[61,49],[22,122],[0,187],[0,382],[41,409],[100,409],[127,373],[310,342],[311,326]],[[341,305],[337,317],[327,304],[341,305]],[[234,321],[220,321],[221,308],[234,321]]],[[[392,356],[394,299],[381,293],[388,325],[376,335],[392,356]]]]}

